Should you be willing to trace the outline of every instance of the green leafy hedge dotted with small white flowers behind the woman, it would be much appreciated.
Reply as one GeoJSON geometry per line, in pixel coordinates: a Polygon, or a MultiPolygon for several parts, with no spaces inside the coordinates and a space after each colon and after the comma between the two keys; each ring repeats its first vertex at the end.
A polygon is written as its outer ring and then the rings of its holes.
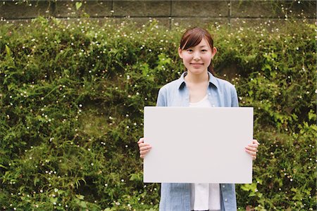
{"type": "MultiPolygon", "coordinates": [[[[316,205],[316,25],[211,25],[218,77],[254,107],[261,142],[244,210],[316,205]],[[230,77],[222,70],[233,66],[230,77]]],[[[37,18],[0,25],[0,205],[3,210],[157,210],[137,140],[143,107],[183,71],[182,27],[37,18]]]]}

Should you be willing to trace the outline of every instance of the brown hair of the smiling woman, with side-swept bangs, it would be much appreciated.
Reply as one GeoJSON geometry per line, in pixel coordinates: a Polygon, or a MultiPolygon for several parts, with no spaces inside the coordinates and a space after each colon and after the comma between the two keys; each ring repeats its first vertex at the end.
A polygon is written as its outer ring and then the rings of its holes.
{"type": "MultiPolygon", "coordinates": [[[[186,50],[197,46],[203,38],[208,41],[211,51],[213,51],[213,39],[211,38],[211,34],[209,34],[207,30],[204,30],[200,27],[188,29],[184,34],[182,34],[182,38],[180,39],[180,49],[186,50]]],[[[210,63],[208,71],[211,72],[212,75],[215,75],[212,63],[210,63]]]]}

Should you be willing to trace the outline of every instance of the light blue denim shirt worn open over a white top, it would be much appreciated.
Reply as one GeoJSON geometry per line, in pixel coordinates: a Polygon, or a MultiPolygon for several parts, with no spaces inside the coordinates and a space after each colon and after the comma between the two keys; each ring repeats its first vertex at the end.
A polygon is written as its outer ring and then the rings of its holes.
{"type": "MultiPolygon", "coordinates": [[[[210,72],[208,99],[214,107],[237,107],[237,91],[235,87],[223,79],[214,77],[210,72]]],[[[159,90],[156,106],[189,106],[189,90],[186,87],[185,75],[170,82],[159,90]]],[[[211,120],[212,121],[212,120],[211,120]]],[[[223,211],[237,210],[235,198],[235,184],[220,184],[220,209],[223,211]]],[[[190,210],[190,184],[162,183],[161,211],[189,211],[190,210]]]]}

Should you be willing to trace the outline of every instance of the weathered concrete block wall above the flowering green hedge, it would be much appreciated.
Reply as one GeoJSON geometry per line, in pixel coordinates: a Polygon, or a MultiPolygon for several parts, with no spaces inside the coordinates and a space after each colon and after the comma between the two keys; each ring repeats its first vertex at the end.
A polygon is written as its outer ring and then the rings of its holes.
{"type": "Polygon", "coordinates": [[[216,22],[231,26],[258,25],[268,20],[280,23],[285,15],[315,22],[316,1],[0,1],[2,23],[28,21],[38,15],[69,19],[89,17],[101,21],[129,18],[137,23],[156,18],[170,28],[216,22]]]}

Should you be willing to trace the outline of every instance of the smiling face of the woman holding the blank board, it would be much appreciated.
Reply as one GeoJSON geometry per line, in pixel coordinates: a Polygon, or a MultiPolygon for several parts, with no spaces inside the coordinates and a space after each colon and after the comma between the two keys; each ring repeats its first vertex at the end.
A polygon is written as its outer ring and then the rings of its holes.
{"type": "Polygon", "coordinates": [[[197,46],[193,46],[189,49],[182,50],[178,48],[178,54],[180,58],[182,58],[185,68],[195,75],[208,71],[211,59],[215,56],[216,51],[217,49],[215,47],[211,49],[206,39],[201,39],[197,46]]]}

